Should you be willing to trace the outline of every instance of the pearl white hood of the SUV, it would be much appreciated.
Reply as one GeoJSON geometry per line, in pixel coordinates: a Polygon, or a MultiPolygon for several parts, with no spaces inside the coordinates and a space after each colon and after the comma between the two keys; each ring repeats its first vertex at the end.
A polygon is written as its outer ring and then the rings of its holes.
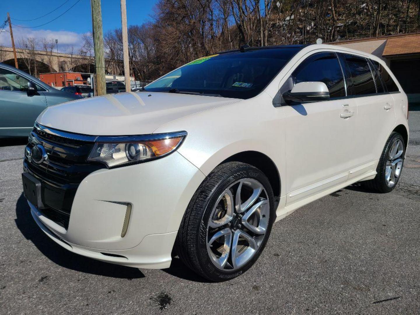
{"type": "Polygon", "coordinates": [[[164,123],[237,101],[204,95],[125,92],[49,107],[39,115],[37,123],[95,136],[151,134],[164,123]]]}

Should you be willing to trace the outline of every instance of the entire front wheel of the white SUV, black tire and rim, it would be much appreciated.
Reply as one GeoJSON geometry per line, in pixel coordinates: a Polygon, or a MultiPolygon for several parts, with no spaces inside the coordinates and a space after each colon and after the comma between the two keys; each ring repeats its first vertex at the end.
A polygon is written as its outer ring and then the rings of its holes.
{"type": "Polygon", "coordinates": [[[235,278],[260,256],[275,217],[273,190],[265,174],[249,164],[224,163],[192,197],[178,231],[178,255],[210,281],[235,278]]]}

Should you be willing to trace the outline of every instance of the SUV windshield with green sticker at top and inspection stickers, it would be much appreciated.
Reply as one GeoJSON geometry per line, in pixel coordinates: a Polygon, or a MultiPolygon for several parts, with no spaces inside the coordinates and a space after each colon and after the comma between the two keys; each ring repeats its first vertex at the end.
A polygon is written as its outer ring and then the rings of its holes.
{"type": "Polygon", "coordinates": [[[144,89],[247,99],[258,95],[300,47],[268,48],[194,60],[144,89]]]}

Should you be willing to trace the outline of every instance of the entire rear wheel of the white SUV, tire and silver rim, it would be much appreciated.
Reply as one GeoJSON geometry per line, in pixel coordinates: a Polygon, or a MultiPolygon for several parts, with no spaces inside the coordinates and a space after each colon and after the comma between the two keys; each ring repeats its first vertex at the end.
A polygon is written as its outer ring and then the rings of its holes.
{"type": "Polygon", "coordinates": [[[375,178],[362,181],[363,186],[371,191],[380,193],[394,190],[401,177],[404,154],[405,147],[402,135],[398,132],[392,132],[379,158],[375,178]]]}

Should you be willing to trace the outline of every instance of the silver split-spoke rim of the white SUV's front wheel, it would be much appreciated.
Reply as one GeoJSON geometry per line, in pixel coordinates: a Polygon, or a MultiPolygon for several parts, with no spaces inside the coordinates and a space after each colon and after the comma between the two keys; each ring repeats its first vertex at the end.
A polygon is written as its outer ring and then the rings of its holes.
{"type": "Polygon", "coordinates": [[[257,253],[270,220],[270,202],[262,184],[243,178],[217,199],[207,223],[207,253],[226,271],[241,268],[257,253]]]}

